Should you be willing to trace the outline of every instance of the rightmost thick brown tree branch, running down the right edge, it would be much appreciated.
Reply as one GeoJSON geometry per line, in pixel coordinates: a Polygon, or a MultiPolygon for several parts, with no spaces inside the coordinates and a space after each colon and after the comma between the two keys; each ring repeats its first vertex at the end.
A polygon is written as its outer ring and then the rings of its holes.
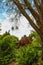
{"type": "Polygon", "coordinates": [[[40,23],[39,24],[40,24],[40,27],[42,27],[43,26],[43,19],[42,19],[42,9],[43,8],[42,8],[39,0],[34,0],[34,3],[35,3],[36,8],[37,8],[37,10],[39,12],[39,16],[40,16],[40,19],[39,19],[40,23]]]}

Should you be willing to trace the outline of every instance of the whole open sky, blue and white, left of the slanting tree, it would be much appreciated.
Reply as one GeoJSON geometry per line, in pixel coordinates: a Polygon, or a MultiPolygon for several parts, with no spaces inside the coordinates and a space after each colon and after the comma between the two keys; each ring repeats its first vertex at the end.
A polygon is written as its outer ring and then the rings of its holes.
{"type": "MultiPolygon", "coordinates": [[[[29,35],[33,28],[29,25],[27,19],[22,15],[18,22],[11,22],[10,19],[14,17],[14,14],[11,13],[10,16],[6,13],[7,7],[0,3],[0,23],[1,23],[1,31],[0,34],[5,33],[6,31],[10,30],[11,35],[15,35],[21,38],[23,35],[29,35]],[[12,26],[15,28],[18,26],[18,29],[12,30],[12,26]]],[[[30,15],[31,16],[31,15],[30,15]]]]}

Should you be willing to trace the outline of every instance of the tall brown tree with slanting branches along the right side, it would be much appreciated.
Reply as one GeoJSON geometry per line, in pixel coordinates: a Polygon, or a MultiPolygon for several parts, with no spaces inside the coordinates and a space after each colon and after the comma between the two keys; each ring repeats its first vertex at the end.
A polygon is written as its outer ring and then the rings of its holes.
{"type": "MultiPolygon", "coordinates": [[[[42,45],[42,60],[43,60],[43,0],[33,0],[35,8],[30,4],[30,0],[9,0],[12,1],[19,9],[19,11],[26,17],[30,25],[40,35],[42,45]],[[36,24],[28,15],[26,10],[29,10],[34,17],[36,24]]],[[[32,1],[32,0],[31,0],[32,1]]]]}

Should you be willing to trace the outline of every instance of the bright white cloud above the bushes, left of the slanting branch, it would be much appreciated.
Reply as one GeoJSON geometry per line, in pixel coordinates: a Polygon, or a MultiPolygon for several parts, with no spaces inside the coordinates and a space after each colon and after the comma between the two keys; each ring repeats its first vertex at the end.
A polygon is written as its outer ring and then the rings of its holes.
{"type": "Polygon", "coordinates": [[[2,31],[0,34],[3,34],[5,31],[10,30],[10,34],[11,35],[15,35],[19,38],[21,38],[23,35],[29,35],[30,30],[33,30],[33,28],[29,25],[27,19],[24,16],[20,17],[20,20],[18,21],[18,23],[16,24],[19,29],[18,30],[11,30],[11,27],[14,26],[15,27],[15,23],[14,22],[9,22],[9,19],[6,17],[6,19],[1,22],[2,26],[2,31]]]}

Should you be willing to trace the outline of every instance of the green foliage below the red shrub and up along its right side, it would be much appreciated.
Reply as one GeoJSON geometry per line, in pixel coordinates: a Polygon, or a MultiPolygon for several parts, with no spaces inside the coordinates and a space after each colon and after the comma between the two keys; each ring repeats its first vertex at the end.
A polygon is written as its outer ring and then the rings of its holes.
{"type": "Polygon", "coordinates": [[[20,65],[36,65],[35,62],[39,60],[41,55],[41,40],[36,32],[32,32],[29,37],[32,43],[20,47],[16,53],[16,62],[20,65]]]}

